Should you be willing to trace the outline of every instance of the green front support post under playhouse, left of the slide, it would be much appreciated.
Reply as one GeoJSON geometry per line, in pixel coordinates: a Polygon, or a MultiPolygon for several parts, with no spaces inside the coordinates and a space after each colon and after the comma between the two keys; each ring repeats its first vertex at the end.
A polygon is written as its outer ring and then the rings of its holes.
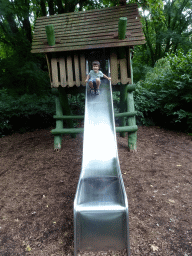
{"type": "MultiPolygon", "coordinates": [[[[56,115],[63,115],[62,106],[59,100],[59,92],[56,88],[52,89],[52,93],[55,95],[56,115]]],[[[63,120],[56,120],[56,130],[63,129],[63,120]]],[[[59,151],[61,149],[62,136],[61,134],[54,136],[54,150],[59,151]]]]}

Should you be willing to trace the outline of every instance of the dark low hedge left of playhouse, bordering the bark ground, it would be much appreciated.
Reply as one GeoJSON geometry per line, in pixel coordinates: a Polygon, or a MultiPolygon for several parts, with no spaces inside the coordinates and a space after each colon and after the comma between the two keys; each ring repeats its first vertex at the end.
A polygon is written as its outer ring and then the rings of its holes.
{"type": "Polygon", "coordinates": [[[55,101],[52,95],[10,96],[0,90],[0,136],[55,125],[55,101]]]}

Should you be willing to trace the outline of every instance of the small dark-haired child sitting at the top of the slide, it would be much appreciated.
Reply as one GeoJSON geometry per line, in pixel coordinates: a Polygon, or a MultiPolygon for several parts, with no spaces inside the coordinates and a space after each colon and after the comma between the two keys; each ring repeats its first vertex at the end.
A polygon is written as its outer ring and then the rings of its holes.
{"type": "Polygon", "coordinates": [[[101,81],[100,81],[100,77],[104,77],[108,80],[111,80],[110,77],[107,77],[105,74],[103,74],[99,68],[100,68],[100,63],[99,61],[93,61],[92,62],[92,67],[93,67],[93,70],[91,70],[85,80],[85,82],[89,82],[89,86],[91,88],[91,94],[97,94],[99,95],[100,92],[99,92],[99,87],[100,87],[100,84],[101,84],[101,81]]]}

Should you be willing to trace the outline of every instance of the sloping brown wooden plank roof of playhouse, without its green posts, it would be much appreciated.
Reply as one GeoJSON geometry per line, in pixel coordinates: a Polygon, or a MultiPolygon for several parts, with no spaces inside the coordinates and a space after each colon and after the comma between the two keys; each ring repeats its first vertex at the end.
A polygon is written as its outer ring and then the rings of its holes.
{"type": "Polygon", "coordinates": [[[144,44],[136,4],[40,17],[35,24],[32,53],[63,52],[144,44]],[[127,37],[119,40],[118,22],[127,17],[127,37]],[[47,43],[46,25],[54,25],[54,46],[47,43]]]}

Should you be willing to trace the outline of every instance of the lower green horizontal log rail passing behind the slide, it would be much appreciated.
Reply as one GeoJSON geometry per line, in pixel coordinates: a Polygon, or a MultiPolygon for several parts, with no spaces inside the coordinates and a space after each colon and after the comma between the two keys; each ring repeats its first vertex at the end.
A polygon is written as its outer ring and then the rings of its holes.
{"type": "MultiPolygon", "coordinates": [[[[138,130],[137,125],[134,126],[124,126],[124,127],[115,127],[116,132],[134,132],[138,130]]],[[[71,129],[53,129],[51,131],[51,133],[53,135],[57,135],[57,134],[76,134],[76,133],[83,133],[84,132],[84,128],[71,128],[71,129]]]]}

